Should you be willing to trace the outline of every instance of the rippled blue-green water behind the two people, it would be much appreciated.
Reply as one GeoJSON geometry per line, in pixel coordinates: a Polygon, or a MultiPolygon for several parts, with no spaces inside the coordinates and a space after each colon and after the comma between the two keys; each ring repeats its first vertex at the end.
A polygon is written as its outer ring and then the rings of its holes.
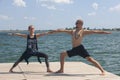
{"type": "MultiPolygon", "coordinates": [[[[27,34],[26,31],[19,32],[27,34]]],[[[26,49],[25,38],[10,36],[8,33],[0,32],[0,63],[14,63],[26,49]]],[[[120,32],[87,35],[82,44],[105,70],[120,76],[120,32]]],[[[48,54],[50,62],[56,62],[62,51],[72,48],[71,36],[66,33],[43,36],[38,39],[38,46],[39,51],[48,54]]],[[[44,61],[42,58],[41,60],[44,61]]],[[[31,57],[29,61],[37,62],[37,58],[31,57]]],[[[80,61],[91,65],[80,56],[66,58],[66,61],[80,61]]]]}

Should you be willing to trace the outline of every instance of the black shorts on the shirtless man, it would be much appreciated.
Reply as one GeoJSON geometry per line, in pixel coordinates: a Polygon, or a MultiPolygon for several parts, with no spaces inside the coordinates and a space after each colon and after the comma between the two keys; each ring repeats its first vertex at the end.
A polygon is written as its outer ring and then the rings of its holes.
{"type": "Polygon", "coordinates": [[[72,48],[71,50],[68,50],[67,54],[68,54],[69,57],[79,55],[79,56],[81,56],[83,58],[86,58],[86,57],[90,56],[83,45],[80,45],[78,47],[72,48]]]}

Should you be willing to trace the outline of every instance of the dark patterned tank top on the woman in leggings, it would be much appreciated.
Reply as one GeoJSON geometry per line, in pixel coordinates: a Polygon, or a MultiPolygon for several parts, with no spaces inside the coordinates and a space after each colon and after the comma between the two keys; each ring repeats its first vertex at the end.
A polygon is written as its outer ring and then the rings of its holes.
{"type": "Polygon", "coordinates": [[[27,36],[27,50],[38,51],[36,35],[33,38],[30,38],[30,35],[27,36]]]}

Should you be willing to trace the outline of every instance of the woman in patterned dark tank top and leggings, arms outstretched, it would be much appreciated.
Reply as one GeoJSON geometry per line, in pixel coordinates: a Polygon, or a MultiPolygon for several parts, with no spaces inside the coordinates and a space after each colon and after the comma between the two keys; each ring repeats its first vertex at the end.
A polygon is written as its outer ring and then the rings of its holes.
{"type": "Polygon", "coordinates": [[[44,36],[44,35],[48,35],[48,34],[52,34],[53,31],[51,32],[45,32],[45,33],[37,33],[35,34],[35,30],[34,30],[34,26],[30,25],[28,27],[28,31],[29,34],[21,34],[21,33],[13,33],[12,35],[15,36],[21,36],[24,38],[27,38],[27,46],[26,46],[26,50],[25,52],[22,54],[22,56],[14,63],[14,65],[12,66],[12,68],[9,70],[9,72],[13,72],[13,68],[15,68],[22,60],[25,60],[28,63],[28,59],[31,56],[37,56],[39,62],[40,59],[39,57],[43,57],[45,58],[45,63],[46,63],[46,67],[47,67],[47,72],[52,72],[49,68],[49,63],[48,63],[48,56],[45,53],[39,52],[38,51],[38,46],[37,46],[37,38],[44,36]]]}

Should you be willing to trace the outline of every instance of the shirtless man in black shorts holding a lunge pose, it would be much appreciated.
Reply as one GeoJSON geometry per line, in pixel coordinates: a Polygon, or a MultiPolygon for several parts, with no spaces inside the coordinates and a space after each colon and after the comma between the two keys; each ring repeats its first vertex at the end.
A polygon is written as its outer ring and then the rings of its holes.
{"type": "Polygon", "coordinates": [[[99,30],[85,30],[83,29],[83,21],[76,21],[76,29],[75,30],[57,30],[56,32],[66,32],[72,36],[72,49],[68,51],[64,51],[60,55],[60,69],[56,73],[64,72],[64,59],[65,57],[73,57],[73,56],[81,56],[87,59],[89,62],[93,63],[100,71],[102,75],[105,74],[104,69],[101,67],[99,62],[97,62],[94,58],[90,56],[87,50],[82,45],[83,37],[89,34],[110,34],[107,31],[99,31],[99,30]]]}

